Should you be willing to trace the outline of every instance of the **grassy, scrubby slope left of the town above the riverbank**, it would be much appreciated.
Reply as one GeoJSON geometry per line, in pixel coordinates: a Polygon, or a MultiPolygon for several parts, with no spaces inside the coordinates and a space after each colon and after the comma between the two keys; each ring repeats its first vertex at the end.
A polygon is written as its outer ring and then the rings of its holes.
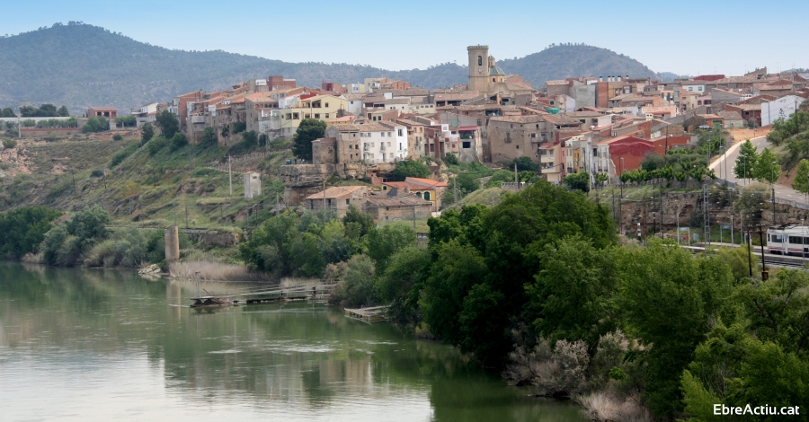
{"type": "MultiPolygon", "coordinates": [[[[63,211],[76,211],[99,204],[109,211],[120,225],[163,227],[176,221],[185,225],[185,207],[192,227],[220,228],[236,231],[244,225],[247,208],[257,203],[269,207],[276,192],[282,193],[278,179],[262,180],[263,195],[245,199],[242,175],[234,171],[233,197],[229,197],[227,171],[215,171],[210,162],[227,154],[224,148],[201,148],[188,145],[171,152],[164,148],[150,155],[139,148],[126,160],[111,169],[106,178],[91,177],[93,170],[109,168],[111,157],[128,145],[138,145],[138,139],[115,141],[61,141],[32,145],[37,169],[30,175],[18,176],[12,183],[6,179],[0,189],[0,210],[23,205],[42,205],[63,211]],[[73,176],[68,170],[54,174],[54,157],[69,158],[75,169],[76,195],[73,176]]],[[[289,149],[272,152],[268,157],[254,160],[254,167],[266,173],[277,173],[277,167],[291,157],[289,149]]]]}

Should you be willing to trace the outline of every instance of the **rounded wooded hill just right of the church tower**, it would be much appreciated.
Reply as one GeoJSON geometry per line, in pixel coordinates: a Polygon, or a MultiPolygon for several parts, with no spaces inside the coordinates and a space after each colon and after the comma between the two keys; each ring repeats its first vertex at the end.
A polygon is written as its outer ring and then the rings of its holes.
{"type": "Polygon", "coordinates": [[[497,65],[506,74],[522,76],[534,87],[542,86],[545,81],[574,76],[659,77],[652,69],[623,54],[573,44],[552,46],[526,57],[498,60],[497,65]]]}

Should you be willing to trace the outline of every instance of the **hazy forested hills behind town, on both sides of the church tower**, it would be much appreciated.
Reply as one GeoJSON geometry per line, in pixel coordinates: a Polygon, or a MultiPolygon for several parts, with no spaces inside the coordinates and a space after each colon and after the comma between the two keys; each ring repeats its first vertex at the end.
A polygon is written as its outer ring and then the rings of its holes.
{"type": "MultiPolygon", "coordinates": [[[[523,75],[534,86],[573,75],[654,75],[636,60],[584,46],[547,48],[498,64],[507,73],[523,75]]],[[[179,93],[214,91],[267,75],[284,75],[297,79],[299,85],[315,87],[323,81],[360,82],[371,76],[393,77],[426,88],[467,82],[466,67],[450,63],[403,71],[287,63],[225,51],[172,50],[73,22],[0,38],[0,107],[50,102],[65,104],[74,113],[93,105],[111,105],[126,112],[147,102],[168,101],[179,93]]]]}

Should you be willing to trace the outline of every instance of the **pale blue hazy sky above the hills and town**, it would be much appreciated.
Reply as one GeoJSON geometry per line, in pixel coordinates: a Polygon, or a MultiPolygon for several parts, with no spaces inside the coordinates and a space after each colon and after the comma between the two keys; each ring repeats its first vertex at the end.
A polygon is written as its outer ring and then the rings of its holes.
{"type": "Polygon", "coordinates": [[[288,62],[391,70],[464,64],[468,45],[497,58],[583,42],[655,72],[740,75],[809,67],[809,1],[620,2],[256,0],[0,2],[0,33],[83,21],[165,48],[222,49],[288,62]]]}

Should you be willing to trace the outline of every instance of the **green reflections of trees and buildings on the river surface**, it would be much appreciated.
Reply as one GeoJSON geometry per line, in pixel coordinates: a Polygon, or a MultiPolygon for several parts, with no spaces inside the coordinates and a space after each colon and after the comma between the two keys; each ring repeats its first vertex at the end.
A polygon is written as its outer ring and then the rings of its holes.
{"type": "MultiPolygon", "coordinates": [[[[102,356],[145,352],[163,367],[167,388],[191,395],[195,405],[239,400],[323,409],[352,398],[429,394],[438,420],[542,416],[534,405],[520,406],[524,391],[504,389],[496,374],[485,374],[453,347],[413,340],[396,326],[352,321],[324,305],[196,312],[176,306],[190,303],[194,282],[147,281],[128,271],[0,263],[0,279],[6,327],[0,346],[24,342],[102,356]],[[486,406],[464,410],[473,403],[486,406]]],[[[243,287],[200,286],[211,292],[243,287]]]]}

